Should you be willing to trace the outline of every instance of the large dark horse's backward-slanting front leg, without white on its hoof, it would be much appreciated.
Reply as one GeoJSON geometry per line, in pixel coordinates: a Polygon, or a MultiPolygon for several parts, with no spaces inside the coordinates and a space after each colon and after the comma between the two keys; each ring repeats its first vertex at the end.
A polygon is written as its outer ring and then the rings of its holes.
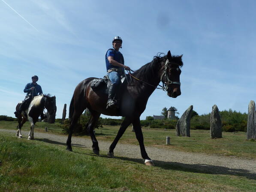
{"type": "Polygon", "coordinates": [[[117,133],[117,136],[114,138],[114,141],[112,142],[112,144],[109,147],[109,151],[108,151],[108,157],[113,158],[114,157],[114,148],[117,145],[117,142],[119,141],[119,139],[122,137],[123,133],[125,132],[125,130],[127,129],[127,127],[131,124],[131,120],[128,117],[125,117],[120,129],[117,133]]]}

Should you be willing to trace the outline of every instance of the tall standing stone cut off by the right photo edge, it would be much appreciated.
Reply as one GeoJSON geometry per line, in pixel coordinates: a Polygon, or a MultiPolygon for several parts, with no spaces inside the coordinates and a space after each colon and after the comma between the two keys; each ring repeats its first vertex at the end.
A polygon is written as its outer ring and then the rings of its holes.
{"type": "Polygon", "coordinates": [[[256,111],[254,101],[250,101],[248,107],[247,139],[256,140],[256,111]]]}

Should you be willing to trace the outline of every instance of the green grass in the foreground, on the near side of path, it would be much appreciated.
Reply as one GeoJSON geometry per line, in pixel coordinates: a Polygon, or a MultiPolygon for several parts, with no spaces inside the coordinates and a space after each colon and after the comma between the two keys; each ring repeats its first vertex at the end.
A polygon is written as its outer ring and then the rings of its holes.
{"type": "Polygon", "coordinates": [[[106,158],[90,149],[18,139],[0,132],[0,191],[253,192],[255,175],[214,167],[200,172],[175,162],[106,158]]]}

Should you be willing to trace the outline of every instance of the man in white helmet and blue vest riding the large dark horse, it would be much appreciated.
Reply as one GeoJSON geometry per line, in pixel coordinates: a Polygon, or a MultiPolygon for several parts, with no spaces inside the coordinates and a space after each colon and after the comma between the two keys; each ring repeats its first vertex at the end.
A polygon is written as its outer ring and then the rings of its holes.
{"type": "Polygon", "coordinates": [[[106,108],[114,108],[117,101],[114,99],[117,87],[120,84],[120,74],[123,69],[130,70],[130,67],[124,65],[123,54],[119,51],[122,48],[122,39],[119,36],[114,37],[112,45],[114,49],[108,49],[105,55],[106,69],[108,77],[111,81],[108,90],[108,102],[106,108]]]}

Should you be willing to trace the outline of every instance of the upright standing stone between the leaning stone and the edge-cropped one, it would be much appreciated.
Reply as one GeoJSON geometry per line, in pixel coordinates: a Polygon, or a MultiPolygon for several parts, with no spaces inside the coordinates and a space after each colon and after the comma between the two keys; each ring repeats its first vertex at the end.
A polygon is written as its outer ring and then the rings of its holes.
{"type": "Polygon", "coordinates": [[[211,138],[222,138],[220,111],[217,105],[212,106],[210,134],[211,138]]]}

